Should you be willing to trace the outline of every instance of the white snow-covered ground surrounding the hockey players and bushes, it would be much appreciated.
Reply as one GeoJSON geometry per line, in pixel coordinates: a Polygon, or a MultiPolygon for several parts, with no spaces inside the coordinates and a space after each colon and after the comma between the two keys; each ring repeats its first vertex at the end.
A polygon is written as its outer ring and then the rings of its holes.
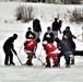
{"type": "MultiPolygon", "coordinates": [[[[70,68],[64,67],[64,60],[61,59],[61,68],[44,68],[42,67],[42,62],[38,59],[33,59],[34,67],[21,66],[17,58],[14,56],[15,67],[4,66],[4,52],[2,50],[3,43],[8,37],[16,33],[19,38],[14,42],[15,50],[22,62],[26,61],[26,54],[23,50],[23,43],[25,40],[25,33],[27,27],[32,27],[32,21],[29,23],[21,23],[16,22],[14,17],[14,10],[17,5],[25,4],[22,2],[0,2],[0,82],[83,82],[83,57],[75,57],[75,66],[71,66],[70,68]],[[8,23],[4,23],[4,20],[8,23]],[[22,49],[21,49],[22,47],[22,49]],[[20,50],[21,49],[21,50],[20,50]]],[[[43,35],[46,32],[47,26],[51,26],[54,17],[57,13],[66,13],[66,10],[70,9],[71,11],[75,7],[82,5],[56,5],[56,4],[45,4],[45,3],[26,3],[33,4],[42,14],[37,14],[36,17],[40,20],[43,33],[40,35],[40,39],[43,39],[43,35]],[[56,11],[57,10],[57,11],[56,11]],[[48,14],[49,13],[49,14],[48,14]],[[42,17],[43,16],[43,17],[42,17]]],[[[39,12],[38,11],[38,12],[39,12]]],[[[64,15],[60,17],[63,20],[62,31],[67,25],[71,27],[72,33],[78,36],[82,33],[82,24],[69,23],[66,22],[64,15]]],[[[61,38],[62,34],[59,34],[61,38]]],[[[82,36],[79,37],[82,39],[82,36]]],[[[76,44],[76,49],[83,50],[83,42],[74,39],[76,44]]],[[[40,59],[45,62],[45,51],[42,50],[42,42],[38,44],[38,48],[36,51],[36,56],[40,55],[40,59]],[[42,52],[40,52],[42,50],[42,52]]]]}

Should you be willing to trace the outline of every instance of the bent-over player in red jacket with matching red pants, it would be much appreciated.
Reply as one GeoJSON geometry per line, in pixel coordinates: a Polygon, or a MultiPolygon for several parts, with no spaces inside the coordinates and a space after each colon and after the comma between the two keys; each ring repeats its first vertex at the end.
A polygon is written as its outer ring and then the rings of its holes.
{"type": "Polygon", "coordinates": [[[43,45],[44,45],[44,49],[46,50],[46,54],[47,54],[47,56],[46,56],[46,62],[47,62],[46,67],[49,67],[49,68],[51,67],[50,58],[52,58],[52,60],[54,60],[54,66],[52,67],[57,67],[58,66],[57,56],[59,55],[58,48],[51,43],[47,43],[47,44],[44,43],[43,45]]]}

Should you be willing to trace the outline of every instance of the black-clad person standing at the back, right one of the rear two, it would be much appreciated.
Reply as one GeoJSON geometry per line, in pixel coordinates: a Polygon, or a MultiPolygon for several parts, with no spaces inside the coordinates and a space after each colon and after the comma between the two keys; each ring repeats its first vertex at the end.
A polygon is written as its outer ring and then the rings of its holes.
{"type": "Polygon", "coordinates": [[[62,21],[60,20],[60,21],[58,22],[58,19],[55,17],[55,21],[54,21],[52,24],[51,24],[55,38],[58,37],[58,31],[61,33],[61,31],[60,31],[61,25],[62,25],[62,21]]]}

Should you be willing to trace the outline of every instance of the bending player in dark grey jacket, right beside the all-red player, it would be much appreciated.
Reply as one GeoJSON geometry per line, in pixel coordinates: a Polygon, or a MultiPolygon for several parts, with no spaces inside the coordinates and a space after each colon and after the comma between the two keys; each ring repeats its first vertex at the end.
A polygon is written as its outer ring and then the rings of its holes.
{"type": "Polygon", "coordinates": [[[60,58],[64,56],[66,59],[66,67],[70,67],[70,55],[72,54],[66,43],[59,38],[55,39],[58,44],[58,49],[61,51],[58,55],[58,66],[60,66],[60,58]]]}

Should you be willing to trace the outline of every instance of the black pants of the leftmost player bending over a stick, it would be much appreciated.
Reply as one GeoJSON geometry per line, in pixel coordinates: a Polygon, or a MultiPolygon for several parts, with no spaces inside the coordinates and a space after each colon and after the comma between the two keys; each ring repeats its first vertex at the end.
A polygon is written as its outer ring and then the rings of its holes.
{"type": "Polygon", "coordinates": [[[4,65],[13,63],[13,54],[10,48],[3,48],[5,54],[4,65]]]}

